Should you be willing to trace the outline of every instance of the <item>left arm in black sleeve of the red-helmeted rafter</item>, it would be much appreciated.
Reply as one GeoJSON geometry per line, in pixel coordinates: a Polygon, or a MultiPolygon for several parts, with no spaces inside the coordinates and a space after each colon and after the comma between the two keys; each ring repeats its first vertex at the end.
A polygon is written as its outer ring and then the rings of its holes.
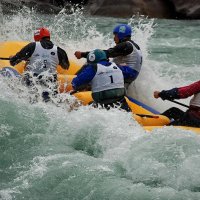
{"type": "Polygon", "coordinates": [[[35,51],[36,43],[32,42],[23,47],[15,56],[10,58],[10,64],[12,66],[17,65],[22,60],[27,61],[35,51]]]}

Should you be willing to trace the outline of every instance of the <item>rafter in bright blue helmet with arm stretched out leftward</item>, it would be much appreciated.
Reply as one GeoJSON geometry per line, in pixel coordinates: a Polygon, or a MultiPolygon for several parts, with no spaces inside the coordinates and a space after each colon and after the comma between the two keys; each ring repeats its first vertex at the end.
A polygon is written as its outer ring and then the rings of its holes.
{"type": "MultiPolygon", "coordinates": [[[[117,25],[113,29],[114,41],[116,46],[104,50],[107,58],[113,58],[113,61],[123,71],[126,88],[134,81],[141,70],[142,52],[138,44],[131,40],[132,28],[127,24],[117,25]],[[126,67],[125,67],[126,66],[126,67]],[[128,66],[128,67],[127,67],[128,66]]],[[[87,58],[89,52],[76,51],[77,59],[87,58]]]]}

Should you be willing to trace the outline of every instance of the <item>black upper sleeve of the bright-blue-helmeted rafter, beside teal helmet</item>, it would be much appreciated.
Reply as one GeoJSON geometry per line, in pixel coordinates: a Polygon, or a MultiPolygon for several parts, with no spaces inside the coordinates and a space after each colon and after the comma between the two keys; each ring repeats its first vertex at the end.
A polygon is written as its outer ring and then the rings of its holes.
{"type": "Polygon", "coordinates": [[[126,56],[133,51],[133,45],[130,42],[122,42],[115,47],[104,50],[108,58],[115,58],[117,56],[126,56]]]}

